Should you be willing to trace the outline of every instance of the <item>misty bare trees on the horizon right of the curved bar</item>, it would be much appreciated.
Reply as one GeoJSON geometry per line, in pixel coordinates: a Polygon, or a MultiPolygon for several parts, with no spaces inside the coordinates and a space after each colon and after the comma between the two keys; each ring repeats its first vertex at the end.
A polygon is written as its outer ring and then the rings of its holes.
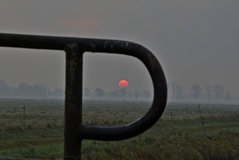
{"type": "Polygon", "coordinates": [[[185,99],[194,99],[197,102],[199,99],[203,101],[228,102],[231,99],[230,92],[226,91],[221,84],[201,86],[197,83],[191,85],[189,92],[184,92],[183,87],[177,83],[169,83],[169,98],[173,101],[181,101],[185,99]]]}

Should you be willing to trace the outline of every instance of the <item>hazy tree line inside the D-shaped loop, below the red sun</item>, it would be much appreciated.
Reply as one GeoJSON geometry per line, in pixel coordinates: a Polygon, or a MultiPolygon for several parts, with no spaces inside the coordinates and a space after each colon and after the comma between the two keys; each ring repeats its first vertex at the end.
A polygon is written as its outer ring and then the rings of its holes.
{"type": "Polygon", "coordinates": [[[152,98],[150,91],[130,91],[125,88],[115,89],[110,92],[104,91],[102,88],[96,88],[91,91],[88,87],[85,87],[83,90],[84,98],[105,98],[105,99],[150,99],[152,98]]]}

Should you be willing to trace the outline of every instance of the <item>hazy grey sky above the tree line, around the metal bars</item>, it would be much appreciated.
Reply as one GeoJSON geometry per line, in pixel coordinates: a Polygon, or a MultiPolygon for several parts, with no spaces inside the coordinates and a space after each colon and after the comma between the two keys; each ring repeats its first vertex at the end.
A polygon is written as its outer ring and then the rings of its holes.
{"type": "MultiPolygon", "coordinates": [[[[156,54],[168,82],[185,92],[199,83],[222,84],[239,95],[238,0],[2,0],[0,32],[122,39],[156,54]]],[[[137,59],[85,54],[84,85],[92,90],[151,89],[137,59]]],[[[0,79],[9,85],[64,88],[64,53],[0,48],[0,79]]]]}

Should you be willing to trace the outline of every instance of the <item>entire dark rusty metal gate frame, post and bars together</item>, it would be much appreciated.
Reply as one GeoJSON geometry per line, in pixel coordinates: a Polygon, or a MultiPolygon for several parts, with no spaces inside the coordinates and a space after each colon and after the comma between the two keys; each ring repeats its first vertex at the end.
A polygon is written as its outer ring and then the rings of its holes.
{"type": "Polygon", "coordinates": [[[167,102],[164,72],[156,57],[145,47],[119,40],[53,37],[0,33],[0,46],[66,52],[64,159],[81,159],[81,141],[122,140],[136,136],[154,125],[167,102]],[[138,58],[153,82],[154,99],[148,112],[135,122],[123,126],[82,125],[82,57],[84,52],[124,54],[138,58]]]}

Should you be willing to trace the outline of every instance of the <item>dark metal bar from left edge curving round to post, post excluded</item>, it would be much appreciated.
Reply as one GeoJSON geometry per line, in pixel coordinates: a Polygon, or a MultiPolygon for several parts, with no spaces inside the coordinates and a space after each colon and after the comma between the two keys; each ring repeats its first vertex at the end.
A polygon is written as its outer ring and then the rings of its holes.
{"type": "MultiPolygon", "coordinates": [[[[100,127],[79,125],[77,134],[80,140],[121,140],[133,137],[154,125],[165,109],[167,103],[167,84],[163,69],[156,57],[148,49],[139,44],[119,40],[0,33],[0,46],[64,50],[72,62],[75,61],[78,63],[79,69],[81,68],[79,64],[82,63],[82,54],[86,51],[129,55],[138,58],[145,65],[152,78],[154,88],[153,103],[148,112],[138,120],[124,126],[100,127]],[[77,55],[79,57],[74,59],[74,56],[77,55]],[[71,57],[73,57],[73,59],[71,57]]],[[[67,65],[69,66],[70,63],[67,65]]],[[[77,74],[75,70],[74,73],[77,74]]],[[[78,79],[81,77],[80,74],[77,74],[77,76],[78,79]]],[[[77,92],[80,91],[80,87],[81,86],[77,87],[77,92]]],[[[68,93],[66,93],[66,95],[67,94],[68,93]]],[[[69,103],[66,102],[66,107],[68,104],[69,103]]],[[[76,100],[76,104],[74,105],[80,105],[81,109],[81,101],[76,100]]],[[[79,109],[77,111],[80,113],[79,109]]]]}

